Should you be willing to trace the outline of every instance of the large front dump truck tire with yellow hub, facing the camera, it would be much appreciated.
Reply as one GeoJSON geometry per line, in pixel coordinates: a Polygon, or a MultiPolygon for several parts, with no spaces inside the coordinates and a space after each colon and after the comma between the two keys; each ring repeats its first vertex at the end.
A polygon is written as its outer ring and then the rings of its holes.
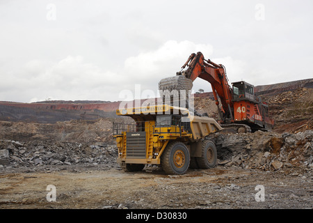
{"type": "Polygon", "coordinates": [[[161,167],[166,174],[185,174],[189,163],[188,148],[179,141],[170,142],[161,156],[161,167]]]}

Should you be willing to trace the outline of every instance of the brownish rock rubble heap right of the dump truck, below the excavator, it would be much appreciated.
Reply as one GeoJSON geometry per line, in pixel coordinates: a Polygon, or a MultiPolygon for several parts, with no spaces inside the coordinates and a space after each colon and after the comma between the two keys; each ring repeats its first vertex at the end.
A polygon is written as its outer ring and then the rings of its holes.
{"type": "Polygon", "coordinates": [[[219,164],[245,169],[277,171],[313,167],[313,130],[297,134],[257,131],[248,134],[216,133],[207,137],[216,144],[219,164]]]}

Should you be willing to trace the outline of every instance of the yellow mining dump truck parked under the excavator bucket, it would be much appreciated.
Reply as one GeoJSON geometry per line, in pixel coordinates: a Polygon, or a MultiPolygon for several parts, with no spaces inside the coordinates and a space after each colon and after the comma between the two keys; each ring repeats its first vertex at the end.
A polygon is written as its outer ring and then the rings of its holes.
{"type": "Polygon", "coordinates": [[[212,141],[204,139],[222,130],[207,116],[192,116],[188,109],[157,105],[117,109],[134,123],[113,123],[118,159],[125,171],[141,171],[145,164],[160,164],[166,174],[185,174],[188,167],[216,166],[217,152],[212,141]]]}

